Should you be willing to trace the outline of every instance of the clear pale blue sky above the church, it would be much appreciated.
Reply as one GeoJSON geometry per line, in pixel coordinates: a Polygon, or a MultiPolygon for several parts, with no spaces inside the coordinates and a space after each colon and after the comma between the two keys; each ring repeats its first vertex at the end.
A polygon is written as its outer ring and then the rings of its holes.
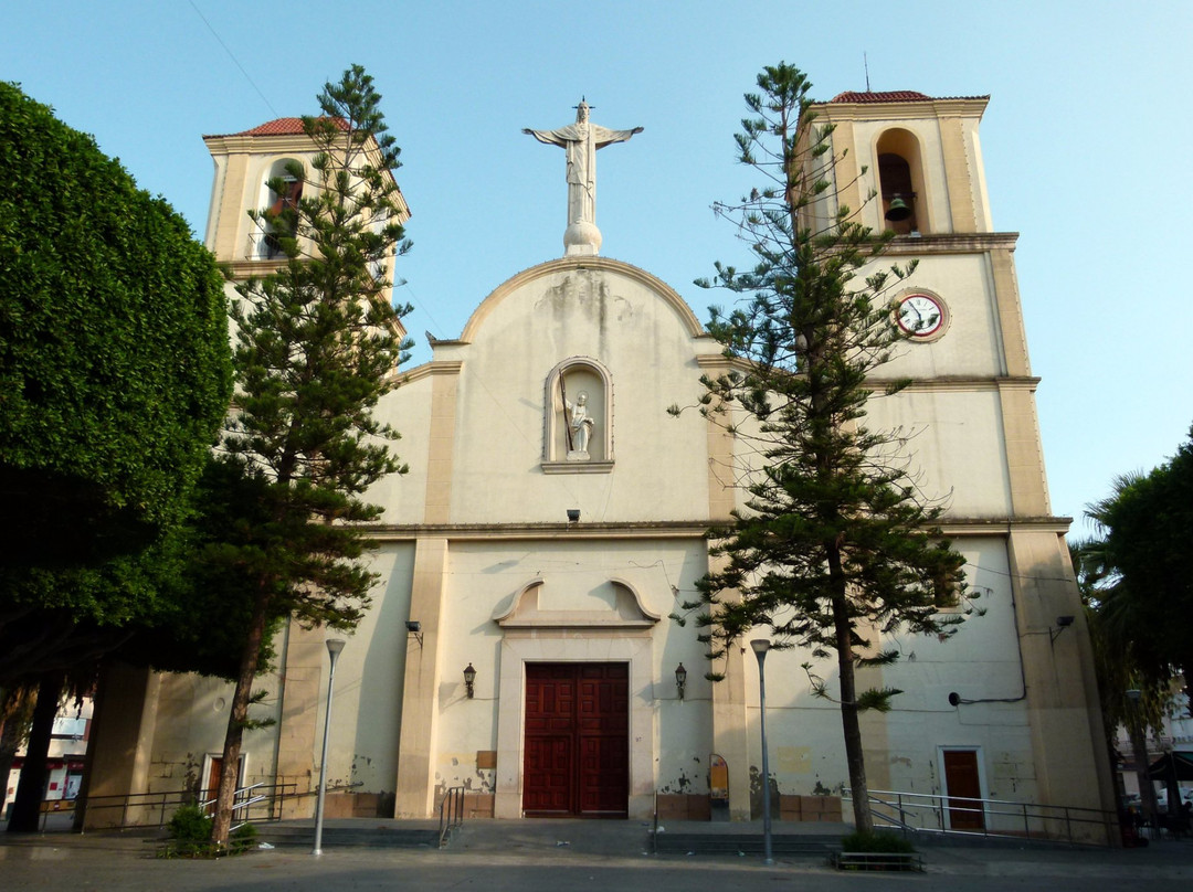
{"type": "MultiPolygon", "coordinates": [[[[384,95],[414,211],[407,324],[459,334],[515,272],[562,254],[562,153],[521,128],[574,119],[645,131],[600,154],[602,254],[692,286],[741,262],[716,199],[742,93],[765,64],[817,98],[866,86],[979,95],[995,228],[1016,262],[1052,508],[1078,516],[1121,472],[1170,456],[1193,422],[1193,4],[256,2],[13,4],[0,78],[93,134],[144,188],[204,230],[203,134],[314,112],[351,63],[384,95]]],[[[428,355],[426,347],[415,359],[428,355]]],[[[1080,528],[1080,525],[1078,525],[1080,528]]]]}

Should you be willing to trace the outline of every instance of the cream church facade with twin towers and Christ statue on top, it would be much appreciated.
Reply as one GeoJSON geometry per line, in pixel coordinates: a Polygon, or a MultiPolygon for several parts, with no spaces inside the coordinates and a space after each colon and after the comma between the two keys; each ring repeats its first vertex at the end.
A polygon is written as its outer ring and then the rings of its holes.
{"type": "MultiPolygon", "coordinates": [[[[870,423],[914,432],[913,476],[946,500],[944,528],[984,611],[948,640],[890,638],[902,658],[863,670],[859,683],[904,692],[863,718],[867,776],[872,789],[1113,810],[1068,521],[1049,504],[1016,235],[990,218],[985,104],[843,93],[818,106],[836,125],[834,150],[857,165],[839,172],[852,184],[841,200],[874,229],[890,225],[892,203],[908,211],[894,215],[889,254],[919,259],[898,297],[932,322],[910,326],[883,370],[914,384],[872,401],[870,423]],[[880,198],[867,204],[871,190],[880,198]]],[[[208,243],[240,275],[277,262],[246,212],[272,200],[264,184],[283,162],[311,154],[285,120],[208,137],[208,243]]],[[[580,124],[587,114],[527,132],[588,138],[580,124]]],[[[579,171],[564,145],[564,256],[481,301],[381,407],[410,471],[369,496],[385,508],[373,531],[382,582],[336,668],[328,814],[427,817],[451,787],[476,817],[759,813],[755,659],[733,650],[711,683],[694,631],[668,618],[709,570],[709,526],[738,504],[742,445],[667,408],[692,404],[699,377],[727,360],[668,284],[599,254],[586,193],[595,149],[637,131],[592,128],[617,138],[575,153],[592,161],[579,171]]],[[[237,770],[307,792],[320,770],[324,633],[291,626],[277,651],[254,711],[277,725],[246,736],[237,770]]],[[[848,775],[839,712],[814,696],[809,661],[832,689],[832,662],[799,649],[767,659],[768,755],[785,814],[821,819],[841,813],[848,775]]],[[[91,794],[210,787],[229,688],[115,675],[91,794]]],[[[1003,820],[944,816],[958,828],[1003,820]]],[[[1100,832],[1089,825],[1089,838],[1100,832]]]]}

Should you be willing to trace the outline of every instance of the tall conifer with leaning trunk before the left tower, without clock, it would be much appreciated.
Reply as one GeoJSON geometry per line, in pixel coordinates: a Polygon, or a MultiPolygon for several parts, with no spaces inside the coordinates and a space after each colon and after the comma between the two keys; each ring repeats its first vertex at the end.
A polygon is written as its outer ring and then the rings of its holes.
{"type": "MultiPolygon", "coordinates": [[[[270,624],[351,630],[369,605],[376,574],[361,556],[360,524],[381,508],[361,500],[388,473],[404,470],[373,414],[395,385],[406,345],[385,271],[403,252],[403,205],[394,169],[398,149],[381,94],[359,66],[327,83],[321,114],[303,118],[317,149],[297,202],[253,217],[268,225],[288,262],[236,286],[235,411],[223,438],[228,535],[205,547],[224,586],[252,605],[240,655],[223,764],[235,766],[251,724],[253,679],[270,624]],[[236,516],[235,504],[249,509],[236,516]]],[[[290,194],[282,180],[271,184],[290,194]]],[[[225,844],[236,773],[224,772],[212,840],[225,844]]]]}

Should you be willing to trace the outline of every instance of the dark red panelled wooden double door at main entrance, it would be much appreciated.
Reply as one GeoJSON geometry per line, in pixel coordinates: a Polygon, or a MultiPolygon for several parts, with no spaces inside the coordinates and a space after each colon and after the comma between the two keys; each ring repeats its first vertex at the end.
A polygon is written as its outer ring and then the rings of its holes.
{"type": "Polygon", "coordinates": [[[629,731],[629,663],[527,663],[523,813],[626,817],[629,731]]]}

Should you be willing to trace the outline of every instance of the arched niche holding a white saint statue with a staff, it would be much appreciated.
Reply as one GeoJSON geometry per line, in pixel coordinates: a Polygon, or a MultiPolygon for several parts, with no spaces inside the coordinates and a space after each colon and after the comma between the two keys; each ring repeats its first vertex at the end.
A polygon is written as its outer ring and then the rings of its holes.
{"type": "Polygon", "coordinates": [[[585,473],[612,466],[613,380],[595,359],[565,359],[544,385],[543,470],[585,473]]]}

